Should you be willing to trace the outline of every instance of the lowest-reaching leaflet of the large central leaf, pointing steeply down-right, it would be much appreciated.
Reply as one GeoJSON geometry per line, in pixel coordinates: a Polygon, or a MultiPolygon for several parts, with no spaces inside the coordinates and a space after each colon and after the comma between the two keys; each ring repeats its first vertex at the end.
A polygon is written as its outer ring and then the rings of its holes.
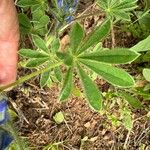
{"type": "Polygon", "coordinates": [[[78,65],[79,74],[82,80],[84,91],[91,108],[95,111],[102,109],[102,94],[98,87],[94,84],[91,78],[84,72],[84,70],[78,65]]]}

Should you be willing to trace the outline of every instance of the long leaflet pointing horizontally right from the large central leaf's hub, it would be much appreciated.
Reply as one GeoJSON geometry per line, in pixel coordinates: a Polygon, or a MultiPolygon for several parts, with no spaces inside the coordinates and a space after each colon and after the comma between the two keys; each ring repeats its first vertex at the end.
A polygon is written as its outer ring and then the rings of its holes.
{"type": "Polygon", "coordinates": [[[101,50],[99,52],[82,54],[79,58],[111,64],[126,64],[134,61],[138,56],[138,53],[127,48],[115,48],[112,50],[101,50]]]}

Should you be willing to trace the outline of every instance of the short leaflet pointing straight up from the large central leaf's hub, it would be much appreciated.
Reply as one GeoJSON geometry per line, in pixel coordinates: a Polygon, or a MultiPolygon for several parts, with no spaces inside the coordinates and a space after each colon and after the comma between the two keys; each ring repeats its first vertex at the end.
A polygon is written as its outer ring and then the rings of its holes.
{"type": "Polygon", "coordinates": [[[71,43],[71,48],[73,50],[73,52],[76,52],[78,46],[81,43],[81,40],[84,36],[84,30],[81,27],[81,25],[76,22],[70,32],[70,43],[71,43]]]}

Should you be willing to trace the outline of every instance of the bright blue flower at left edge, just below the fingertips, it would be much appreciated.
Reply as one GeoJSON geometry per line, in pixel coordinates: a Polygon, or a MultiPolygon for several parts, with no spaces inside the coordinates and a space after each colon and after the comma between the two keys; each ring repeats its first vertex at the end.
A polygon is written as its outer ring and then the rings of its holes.
{"type": "Polygon", "coordinates": [[[6,99],[0,100],[0,125],[8,120],[7,116],[7,101],[6,99]]]}

